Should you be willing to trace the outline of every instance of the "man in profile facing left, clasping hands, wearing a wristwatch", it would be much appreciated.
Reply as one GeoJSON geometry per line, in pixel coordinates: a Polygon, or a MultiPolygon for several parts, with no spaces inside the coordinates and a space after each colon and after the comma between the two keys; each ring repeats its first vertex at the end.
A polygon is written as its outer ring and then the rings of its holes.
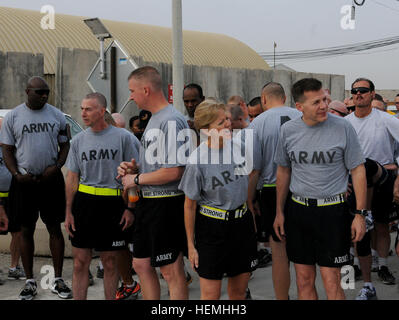
{"type": "Polygon", "coordinates": [[[155,267],[160,267],[168,283],[170,298],[187,299],[183,270],[183,253],[187,251],[184,194],[178,190],[185,163],[180,163],[176,156],[184,141],[177,141],[176,136],[188,129],[188,124],[166,100],[161,76],[155,68],[147,66],[133,71],[129,90],[131,100],[152,113],[141,138],[139,174],[132,174],[131,163],[121,163],[118,168],[125,188],[139,186],[142,194],[136,211],[133,267],[140,278],[144,299],[160,299],[155,267]]]}

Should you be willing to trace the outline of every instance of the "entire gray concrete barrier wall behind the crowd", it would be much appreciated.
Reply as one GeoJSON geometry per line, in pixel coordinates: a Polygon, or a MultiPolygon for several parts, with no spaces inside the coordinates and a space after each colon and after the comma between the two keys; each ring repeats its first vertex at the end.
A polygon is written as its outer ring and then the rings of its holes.
{"type": "MultiPolygon", "coordinates": [[[[80,124],[80,102],[91,90],[86,79],[98,59],[92,50],[57,48],[57,73],[48,75],[54,81],[49,85],[53,91],[50,103],[71,114],[80,124]]],[[[151,65],[157,68],[164,82],[164,93],[168,94],[168,84],[172,84],[172,66],[167,63],[146,62],[142,57],[132,57],[139,66],[151,65]]],[[[5,88],[0,95],[0,108],[12,108],[25,101],[24,87],[29,77],[43,75],[43,56],[30,53],[0,52],[0,87],[5,88]]],[[[291,97],[292,84],[305,77],[315,77],[330,89],[333,99],[345,97],[345,77],[340,75],[290,72],[286,70],[246,70],[226,69],[207,66],[184,66],[185,83],[198,83],[204,95],[226,102],[232,95],[241,95],[245,101],[259,96],[262,87],[269,81],[279,82],[287,94],[287,105],[294,105],[291,97]]],[[[127,80],[126,80],[127,81],[127,80]]],[[[129,93],[127,93],[128,96],[129,93]]],[[[177,97],[176,97],[177,98],[177,97]]],[[[178,97],[181,99],[181,97],[178,97]]],[[[122,112],[126,120],[138,114],[134,103],[122,112]]]]}

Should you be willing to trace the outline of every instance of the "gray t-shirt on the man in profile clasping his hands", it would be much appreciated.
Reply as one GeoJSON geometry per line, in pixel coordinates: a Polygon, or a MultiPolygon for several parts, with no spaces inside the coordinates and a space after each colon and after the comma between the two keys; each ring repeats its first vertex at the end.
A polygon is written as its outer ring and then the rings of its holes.
{"type": "MultiPolygon", "coordinates": [[[[190,151],[190,141],[187,141],[189,136],[191,132],[186,119],[172,105],[154,113],[141,138],[139,172],[185,166],[190,151]],[[179,133],[184,129],[187,135],[178,141],[179,133]],[[187,156],[179,157],[178,151],[184,145],[187,145],[187,156]]],[[[165,185],[142,185],[140,188],[142,191],[177,191],[178,185],[179,181],[174,181],[165,185]]]]}

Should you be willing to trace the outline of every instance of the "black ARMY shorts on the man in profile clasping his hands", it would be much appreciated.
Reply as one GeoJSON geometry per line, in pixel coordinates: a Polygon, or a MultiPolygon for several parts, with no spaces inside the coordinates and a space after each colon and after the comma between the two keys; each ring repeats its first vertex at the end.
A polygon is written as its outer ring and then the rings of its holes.
{"type": "Polygon", "coordinates": [[[135,258],[151,258],[151,266],[161,267],[174,263],[180,253],[187,255],[184,198],[140,198],[133,234],[135,258]]]}

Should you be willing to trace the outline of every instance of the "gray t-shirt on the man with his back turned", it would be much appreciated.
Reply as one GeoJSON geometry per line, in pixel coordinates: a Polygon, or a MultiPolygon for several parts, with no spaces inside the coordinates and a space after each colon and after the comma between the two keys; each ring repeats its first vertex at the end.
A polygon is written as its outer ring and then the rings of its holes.
{"type": "Polygon", "coordinates": [[[254,136],[256,141],[259,142],[258,148],[262,157],[258,190],[262,189],[265,184],[276,183],[277,165],[274,162],[274,155],[276,154],[280,127],[291,119],[298,119],[301,115],[302,113],[294,108],[275,107],[261,113],[249,126],[250,129],[254,130],[254,136]]]}

